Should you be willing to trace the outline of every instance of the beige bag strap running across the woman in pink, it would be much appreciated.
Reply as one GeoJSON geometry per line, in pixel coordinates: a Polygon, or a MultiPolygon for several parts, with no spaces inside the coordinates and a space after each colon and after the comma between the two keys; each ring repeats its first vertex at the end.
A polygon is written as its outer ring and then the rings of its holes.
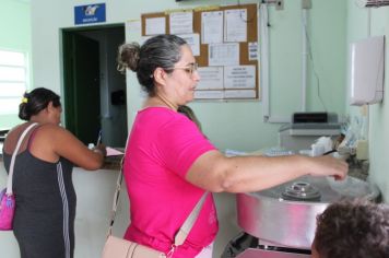
{"type": "MultiPolygon", "coordinates": [[[[109,224],[109,228],[108,228],[108,235],[110,235],[111,232],[113,232],[113,226],[114,226],[115,216],[116,216],[116,210],[117,210],[117,207],[118,207],[118,200],[119,200],[119,196],[120,196],[121,183],[122,183],[122,169],[120,169],[118,179],[116,181],[116,191],[115,191],[115,195],[114,195],[113,212],[111,212],[110,224],[109,224]]],[[[202,197],[197,202],[197,204],[193,208],[193,210],[190,212],[189,216],[186,219],[186,221],[184,222],[184,224],[181,225],[179,231],[176,233],[175,238],[174,238],[174,246],[175,247],[181,245],[185,242],[185,239],[187,238],[187,236],[188,236],[190,230],[192,228],[197,218],[199,216],[200,210],[201,210],[201,208],[202,208],[202,206],[204,203],[204,200],[205,200],[209,192],[205,191],[202,195],[202,197]]]]}

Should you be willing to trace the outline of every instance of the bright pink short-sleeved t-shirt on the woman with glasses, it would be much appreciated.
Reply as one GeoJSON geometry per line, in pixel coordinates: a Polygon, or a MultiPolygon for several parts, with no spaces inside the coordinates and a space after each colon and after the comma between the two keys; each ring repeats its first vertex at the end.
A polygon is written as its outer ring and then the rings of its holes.
{"type": "MultiPolygon", "coordinates": [[[[125,238],[168,253],[174,235],[204,194],[185,176],[200,155],[215,148],[194,122],[165,107],[138,113],[127,148],[125,177],[131,224],[125,238]]],[[[217,230],[214,200],[209,195],[173,257],[194,257],[214,241],[217,230]]]]}

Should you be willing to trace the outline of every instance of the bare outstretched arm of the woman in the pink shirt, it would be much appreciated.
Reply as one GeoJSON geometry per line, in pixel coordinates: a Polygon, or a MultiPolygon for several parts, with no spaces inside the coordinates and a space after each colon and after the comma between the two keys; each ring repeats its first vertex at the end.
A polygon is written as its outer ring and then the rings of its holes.
{"type": "Polygon", "coordinates": [[[234,156],[219,151],[199,156],[186,175],[188,181],[210,191],[258,191],[304,175],[344,178],[347,164],[330,156],[234,156]]]}

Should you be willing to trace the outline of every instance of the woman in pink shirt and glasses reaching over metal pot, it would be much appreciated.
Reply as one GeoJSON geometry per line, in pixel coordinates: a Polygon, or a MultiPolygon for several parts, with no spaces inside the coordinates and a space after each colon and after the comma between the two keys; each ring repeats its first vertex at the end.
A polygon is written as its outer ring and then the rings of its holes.
{"type": "Polygon", "coordinates": [[[189,45],[175,35],[119,48],[119,71],[137,72],[149,94],[125,155],[131,207],[125,238],[169,255],[174,250],[175,258],[212,257],[205,248],[219,228],[212,195],[185,243],[172,249],[175,234],[204,191],[258,191],[307,174],[344,178],[347,171],[346,163],[330,156],[226,157],[193,121],[177,113],[193,99],[200,80],[197,68],[189,45]]]}

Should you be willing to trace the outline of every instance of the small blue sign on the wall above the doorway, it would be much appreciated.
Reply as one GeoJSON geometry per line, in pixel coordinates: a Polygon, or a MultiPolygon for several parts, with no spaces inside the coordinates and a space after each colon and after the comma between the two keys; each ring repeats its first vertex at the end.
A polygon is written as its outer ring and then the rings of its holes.
{"type": "Polygon", "coordinates": [[[105,22],[105,3],[74,7],[74,24],[105,22]]]}

